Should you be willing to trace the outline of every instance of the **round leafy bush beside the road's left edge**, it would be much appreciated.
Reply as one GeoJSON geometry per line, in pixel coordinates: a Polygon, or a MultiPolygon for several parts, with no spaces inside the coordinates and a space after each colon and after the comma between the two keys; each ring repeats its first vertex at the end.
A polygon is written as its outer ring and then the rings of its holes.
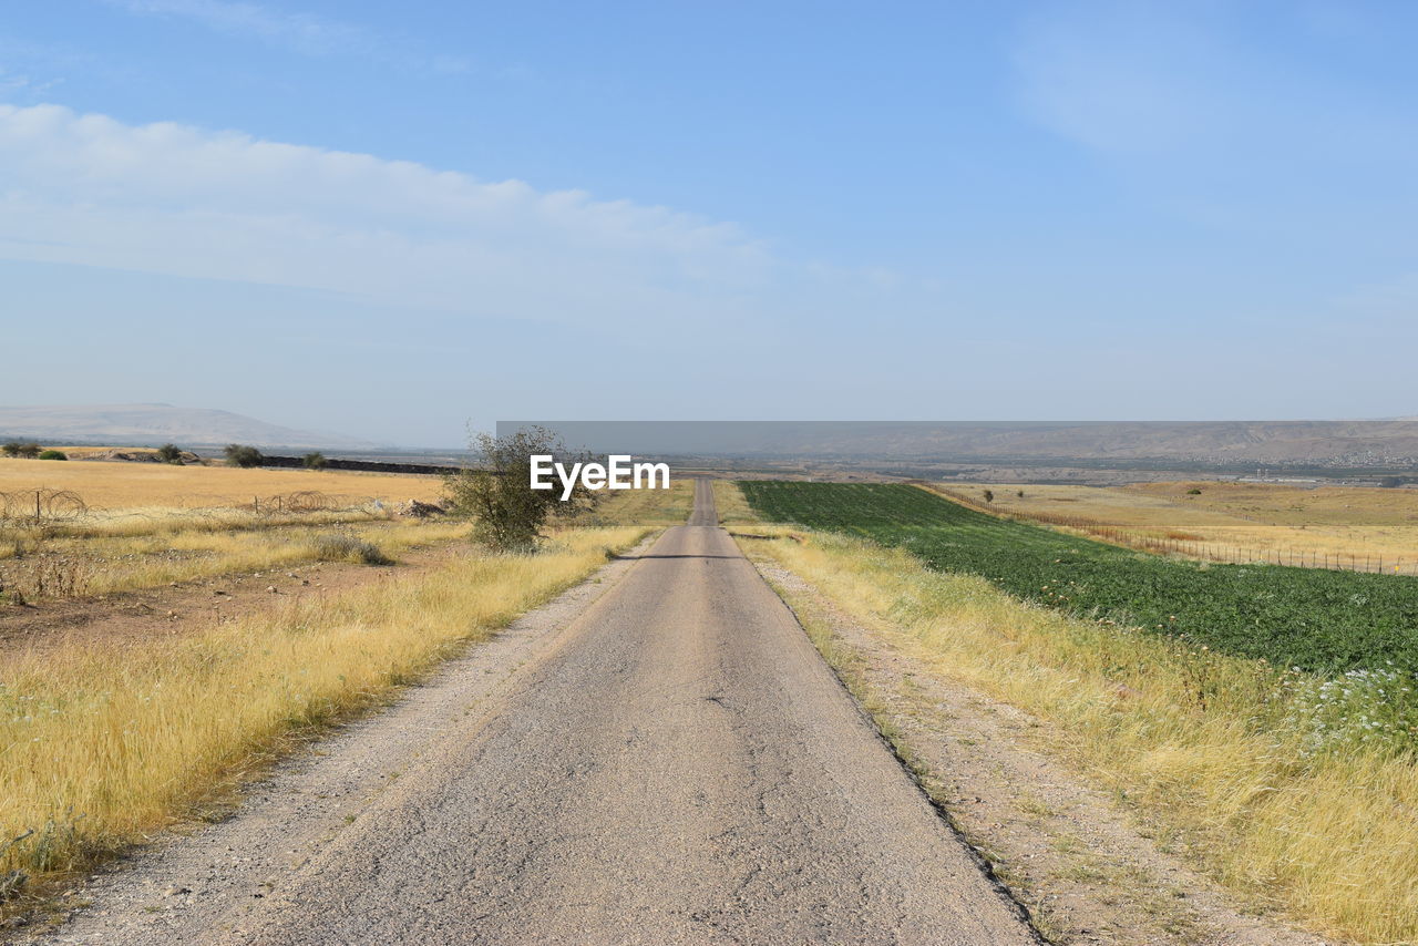
{"type": "Polygon", "coordinates": [[[562,502],[562,489],[532,488],[532,457],[550,454],[566,462],[556,434],[545,427],[526,427],[515,434],[476,434],[471,447],[481,462],[451,474],[445,481],[454,515],[475,519],[474,535],[499,552],[530,552],[542,538],[542,526],[553,515],[573,516],[594,502],[594,495],[577,484],[562,502]]]}

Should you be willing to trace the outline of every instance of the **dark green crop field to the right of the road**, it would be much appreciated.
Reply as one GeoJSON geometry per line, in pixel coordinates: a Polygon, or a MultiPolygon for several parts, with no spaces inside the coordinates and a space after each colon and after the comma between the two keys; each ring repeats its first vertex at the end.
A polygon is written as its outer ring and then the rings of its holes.
{"type": "Polygon", "coordinates": [[[1164,559],[997,519],[906,485],[739,485],[766,519],[899,546],[934,569],[978,574],[1075,616],[1320,674],[1390,662],[1418,671],[1418,579],[1164,559]]]}

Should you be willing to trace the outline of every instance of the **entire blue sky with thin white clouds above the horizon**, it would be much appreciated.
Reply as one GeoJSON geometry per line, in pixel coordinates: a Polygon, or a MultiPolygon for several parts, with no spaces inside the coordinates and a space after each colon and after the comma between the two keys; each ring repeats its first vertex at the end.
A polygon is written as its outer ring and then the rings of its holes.
{"type": "Polygon", "coordinates": [[[0,404],[1418,414],[1418,4],[11,0],[0,404]]]}

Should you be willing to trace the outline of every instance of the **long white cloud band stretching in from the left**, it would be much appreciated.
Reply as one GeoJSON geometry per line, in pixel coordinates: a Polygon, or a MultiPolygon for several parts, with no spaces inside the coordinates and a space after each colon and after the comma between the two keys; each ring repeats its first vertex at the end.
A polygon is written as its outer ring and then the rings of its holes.
{"type": "Polygon", "coordinates": [[[54,105],[0,106],[0,257],[607,326],[732,312],[777,268],[664,207],[54,105]]]}

